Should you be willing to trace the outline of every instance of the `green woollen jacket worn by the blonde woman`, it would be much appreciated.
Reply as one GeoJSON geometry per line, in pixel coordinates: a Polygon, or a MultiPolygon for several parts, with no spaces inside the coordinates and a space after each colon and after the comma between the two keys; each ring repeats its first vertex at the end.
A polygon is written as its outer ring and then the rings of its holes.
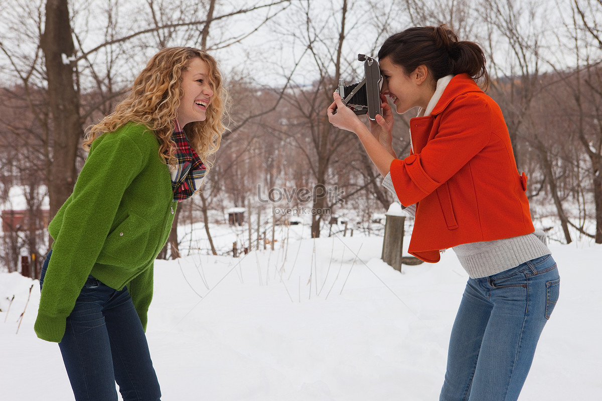
{"type": "Polygon", "coordinates": [[[146,329],[153,262],[165,245],[177,202],[159,142],[146,126],[128,123],[96,139],[73,194],[48,226],[54,239],[34,329],[60,342],[88,275],[127,286],[146,329]]]}

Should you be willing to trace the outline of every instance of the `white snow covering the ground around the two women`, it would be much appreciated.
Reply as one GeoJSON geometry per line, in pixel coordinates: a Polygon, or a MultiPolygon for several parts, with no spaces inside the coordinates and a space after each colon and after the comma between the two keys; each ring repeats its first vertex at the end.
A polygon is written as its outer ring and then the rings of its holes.
{"type": "MultiPolygon", "coordinates": [[[[216,243],[231,246],[228,230],[216,243]]],[[[400,273],[379,259],[382,237],[284,233],[274,251],[156,262],[146,334],[163,399],[438,399],[467,280],[455,254],[400,273]]],[[[600,400],[602,246],[550,248],[560,300],[520,400],[600,400]]],[[[73,399],[57,344],[33,331],[39,296],[38,281],[0,274],[3,400],[73,399]]]]}

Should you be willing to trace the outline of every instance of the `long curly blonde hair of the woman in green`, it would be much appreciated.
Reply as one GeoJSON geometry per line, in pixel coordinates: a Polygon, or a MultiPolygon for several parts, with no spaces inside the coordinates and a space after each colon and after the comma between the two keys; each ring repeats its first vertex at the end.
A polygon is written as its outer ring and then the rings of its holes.
{"type": "Polygon", "coordinates": [[[205,61],[208,66],[209,84],[214,96],[206,110],[205,121],[186,124],[184,132],[191,147],[209,170],[213,165],[210,158],[220,147],[222,133],[226,129],[222,117],[226,113],[228,92],[222,87],[217,61],[207,52],[194,47],[165,47],[155,54],[135,79],[128,97],[117,104],[113,113],[90,127],[84,138],[84,149],[90,150],[92,142],[103,133],[113,132],[134,121],[154,131],[160,142],[160,157],[164,163],[175,166],[173,121],[183,96],[182,72],[195,57],[205,61]]]}

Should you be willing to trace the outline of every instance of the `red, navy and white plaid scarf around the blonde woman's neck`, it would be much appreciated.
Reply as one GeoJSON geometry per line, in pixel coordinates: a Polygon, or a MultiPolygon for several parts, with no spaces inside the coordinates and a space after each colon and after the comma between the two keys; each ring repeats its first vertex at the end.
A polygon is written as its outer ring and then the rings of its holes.
{"type": "Polygon", "coordinates": [[[177,167],[170,167],[172,176],[173,200],[181,202],[190,198],[203,182],[207,168],[199,156],[188,143],[184,130],[178,120],[174,121],[172,140],[176,144],[175,156],[178,159],[177,167]]]}

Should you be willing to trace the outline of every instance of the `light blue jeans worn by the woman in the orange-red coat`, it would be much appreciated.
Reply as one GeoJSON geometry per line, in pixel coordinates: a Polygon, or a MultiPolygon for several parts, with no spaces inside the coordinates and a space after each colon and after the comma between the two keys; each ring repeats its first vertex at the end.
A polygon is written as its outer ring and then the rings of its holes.
{"type": "Polygon", "coordinates": [[[550,255],[470,278],[452,328],[439,401],[515,401],[558,299],[550,255]]]}

